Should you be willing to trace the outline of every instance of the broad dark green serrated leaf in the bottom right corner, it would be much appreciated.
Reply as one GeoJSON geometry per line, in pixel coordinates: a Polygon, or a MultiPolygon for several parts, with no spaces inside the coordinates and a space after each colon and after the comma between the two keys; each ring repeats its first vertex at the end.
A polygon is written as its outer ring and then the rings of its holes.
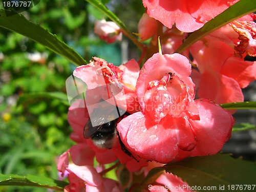
{"type": "MultiPolygon", "coordinates": [[[[231,190],[231,185],[242,185],[242,190],[239,188],[234,191],[251,191],[252,188],[245,190],[245,185],[256,184],[256,164],[241,158],[234,159],[228,154],[187,158],[180,162],[153,168],[149,174],[158,173],[161,170],[177,175],[190,187],[197,186],[197,189],[201,187],[201,190],[204,186],[212,187],[205,191],[228,191],[228,185],[229,190],[231,190]],[[221,190],[220,186],[224,186],[225,190],[221,190]]],[[[154,174],[151,175],[154,176],[154,174]]],[[[147,177],[146,179],[149,180],[147,177]]]]}

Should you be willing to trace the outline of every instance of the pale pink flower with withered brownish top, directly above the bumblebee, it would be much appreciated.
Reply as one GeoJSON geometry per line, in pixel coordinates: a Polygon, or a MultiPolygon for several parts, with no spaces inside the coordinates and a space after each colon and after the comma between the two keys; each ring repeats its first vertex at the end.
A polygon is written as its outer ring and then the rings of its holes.
{"type": "MultiPolygon", "coordinates": [[[[93,57],[86,66],[80,66],[75,69],[73,75],[87,84],[87,99],[90,103],[96,103],[101,98],[129,113],[134,113],[138,103],[135,99],[135,86],[139,76],[139,65],[132,59],[127,63],[116,67],[113,63],[108,63],[104,59],[93,57]],[[111,92],[117,92],[111,96],[111,92]],[[121,86],[122,88],[118,88],[121,86]],[[117,90],[117,91],[115,91],[117,90]],[[112,97],[115,96],[115,99],[112,97]],[[117,103],[116,103],[117,102],[117,103]]],[[[87,104],[88,105],[88,104],[87,104]]]]}

